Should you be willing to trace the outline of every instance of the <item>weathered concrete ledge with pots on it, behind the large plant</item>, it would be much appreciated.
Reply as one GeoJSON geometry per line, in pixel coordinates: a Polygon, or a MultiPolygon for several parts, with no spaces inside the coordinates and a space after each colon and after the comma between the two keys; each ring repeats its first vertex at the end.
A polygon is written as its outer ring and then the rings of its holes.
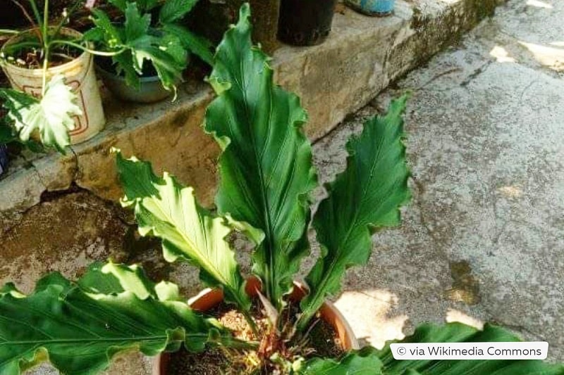
{"type": "MultiPolygon", "coordinates": [[[[282,46],[274,55],[276,79],[302,97],[309,112],[307,133],[327,134],[345,115],[365,106],[390,82],[427,61],[494,11],[499,0],[398,1],[396,14],[369,18],[340,7],[331,37],[320,46],[282,46]]],[[[121,196],[109,148],[151,160],[195,187],[212,203],[219,148],[202,132],[212,100],[203,82],[186,84],[175,103],[138,106],[106,101],[108,124],[94,139],[73,146],[66,156],[23,155],[0,181],[0,232],[20,212],[39,203],[44,191],[73,182],[97,196],[121,196]]]]}

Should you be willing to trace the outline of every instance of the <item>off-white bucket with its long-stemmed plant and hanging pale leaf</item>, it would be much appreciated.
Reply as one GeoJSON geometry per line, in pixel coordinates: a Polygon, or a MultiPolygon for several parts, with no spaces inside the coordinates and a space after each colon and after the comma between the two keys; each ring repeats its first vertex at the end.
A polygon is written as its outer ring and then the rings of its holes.
{"type": "Polygon", "coordinates": [[[43,13],[36,0],[28,1],[31,15],[20,8],[31,28],[0,30],[11,35],[0,50],[0,65],[13,87],[3,89],[1,96],[23,141],[37,134],[45,146],[63,150],[104,127],[93,51],[82,42],[80,32],[64,27],[80,2],[51,25],[49,0],[44,0],[43,13]]]}

